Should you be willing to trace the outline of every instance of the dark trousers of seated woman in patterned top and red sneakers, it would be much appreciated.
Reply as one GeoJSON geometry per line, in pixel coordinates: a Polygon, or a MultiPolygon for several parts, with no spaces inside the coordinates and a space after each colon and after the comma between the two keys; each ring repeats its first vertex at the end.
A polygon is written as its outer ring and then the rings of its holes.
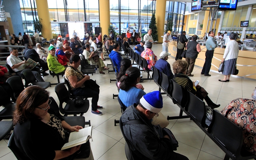
{"type": "Polygon", "coordinates": [[[100,89],[95,88],[95,89],[90,89],[87,87],[78,87],[75,88],[73,91],[73,94],[75,96],[84,96],[84,97],[92,97],[92,111],[96,111],[98,108],[98,100],[99,100],[99,94],[100,94],[100,89]]]}

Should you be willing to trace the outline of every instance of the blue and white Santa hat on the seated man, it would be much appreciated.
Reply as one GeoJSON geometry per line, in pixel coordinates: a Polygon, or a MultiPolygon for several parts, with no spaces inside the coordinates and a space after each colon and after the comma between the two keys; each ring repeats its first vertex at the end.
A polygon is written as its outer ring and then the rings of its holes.
{"type": "Polygon", "coordinates": [[[140,103],[153,113],[159,113],[163,107],[163,98],[159,91],[153,91],[140,98],[140,103]]]}

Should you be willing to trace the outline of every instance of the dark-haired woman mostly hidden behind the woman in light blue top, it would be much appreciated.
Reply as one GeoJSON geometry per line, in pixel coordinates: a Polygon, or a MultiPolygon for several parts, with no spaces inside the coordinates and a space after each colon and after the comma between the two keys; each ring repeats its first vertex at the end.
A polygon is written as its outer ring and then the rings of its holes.
{"type": "MultiPolygon", "coordinates": [[[[120,89],[120,78],[125,75],[125,72],[128,68],[132,67],[132,62],[130,59],[122,59],[121,60],[121,67],[120,67],[120,71],[118,72],[118,75],[116,77],[117,80],[117,86],[120,89]]],[[[143,80],[140,82],[143,82],[143,80]]],[[[137,84],[136,85],[137,88],[144,90],[143,86],[141,84],[137,84]]]]}

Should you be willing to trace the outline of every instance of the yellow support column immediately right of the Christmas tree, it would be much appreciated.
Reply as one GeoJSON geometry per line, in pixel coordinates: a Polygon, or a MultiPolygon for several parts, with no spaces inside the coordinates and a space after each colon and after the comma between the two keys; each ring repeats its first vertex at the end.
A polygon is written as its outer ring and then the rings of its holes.
{"type": "Polygon", "coordinates": [[[158,43],[163,43],[164,20],[165,20],[166,0],[156,1],[156,27],[158,33],[158,43]]]}

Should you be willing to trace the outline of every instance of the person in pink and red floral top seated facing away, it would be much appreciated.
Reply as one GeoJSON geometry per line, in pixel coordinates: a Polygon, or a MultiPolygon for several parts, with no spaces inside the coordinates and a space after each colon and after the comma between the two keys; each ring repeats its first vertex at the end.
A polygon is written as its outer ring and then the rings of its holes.
{"type": "MultiPolygon", "coordinates": [[[[157,57],[154,55],[152,49],[152,43],[147,43],[147,48],[141,53],[141,57],[147,60],[148,69],[153,70],[153,66],[156,64],[157,57]]],[[[145,68],[144,68],[145,69],[145,68]]]]}

